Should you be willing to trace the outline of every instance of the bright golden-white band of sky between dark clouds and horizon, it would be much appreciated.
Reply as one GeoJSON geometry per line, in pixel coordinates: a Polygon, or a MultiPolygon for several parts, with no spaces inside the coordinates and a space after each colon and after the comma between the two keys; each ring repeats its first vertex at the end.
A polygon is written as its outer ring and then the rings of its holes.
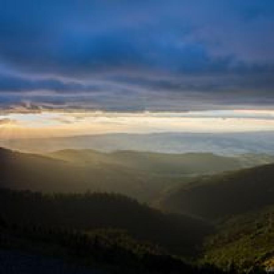
{"type": "Polygon", "coordinates": [[[43,138],[104,133],[274,131],[274,111],[114,113],[40,111],[2,113],[0,138],[43,138]]]}

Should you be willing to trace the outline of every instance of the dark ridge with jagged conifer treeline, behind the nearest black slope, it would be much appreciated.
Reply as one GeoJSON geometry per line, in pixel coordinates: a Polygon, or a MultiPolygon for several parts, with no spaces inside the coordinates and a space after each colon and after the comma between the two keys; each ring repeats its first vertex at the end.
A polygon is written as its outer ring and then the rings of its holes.
{"type": "Polygon", "coordinates": [[[106,193],[42,195],[0,190],[0,208],[8,223],[40,224],[89,231],[124,230],[177,254],[191,254],[212,227],[191,217],[162,213],[126,196],[106,193]]]}

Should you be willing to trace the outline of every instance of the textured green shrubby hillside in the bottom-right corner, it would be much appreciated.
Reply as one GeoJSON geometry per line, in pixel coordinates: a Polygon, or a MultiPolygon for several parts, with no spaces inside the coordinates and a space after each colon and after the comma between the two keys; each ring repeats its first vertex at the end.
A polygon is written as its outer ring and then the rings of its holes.
{"type": "Polygon", "coordinates": [[[222,268],[233,262],[242,270],[274,267],[274,206],[234,216],[217,229],[206,239],[200,262],[222,268]]]}

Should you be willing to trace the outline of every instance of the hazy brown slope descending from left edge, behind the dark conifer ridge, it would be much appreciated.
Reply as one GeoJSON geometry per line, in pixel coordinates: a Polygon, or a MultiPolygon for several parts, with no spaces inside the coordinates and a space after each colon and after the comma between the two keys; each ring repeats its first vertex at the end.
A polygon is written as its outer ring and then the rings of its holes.
{"type": "Polygon", "coordinates": [[[82,165],[9,149],[0,149],[0,170],[1,187],[45,192],[119,192],[143,201],[173,180],[115,163],[82,165]]]}

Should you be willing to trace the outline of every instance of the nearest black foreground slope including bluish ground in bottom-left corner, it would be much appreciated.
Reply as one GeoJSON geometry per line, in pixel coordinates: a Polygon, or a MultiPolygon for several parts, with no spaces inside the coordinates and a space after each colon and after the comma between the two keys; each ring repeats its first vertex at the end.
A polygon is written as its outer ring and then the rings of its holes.
{"type": "Polygon", "coordinates": [[[3,274],[227,273],[211,264],[190,265],[121,233],[1,226],[0,248],[3,274]]]}

